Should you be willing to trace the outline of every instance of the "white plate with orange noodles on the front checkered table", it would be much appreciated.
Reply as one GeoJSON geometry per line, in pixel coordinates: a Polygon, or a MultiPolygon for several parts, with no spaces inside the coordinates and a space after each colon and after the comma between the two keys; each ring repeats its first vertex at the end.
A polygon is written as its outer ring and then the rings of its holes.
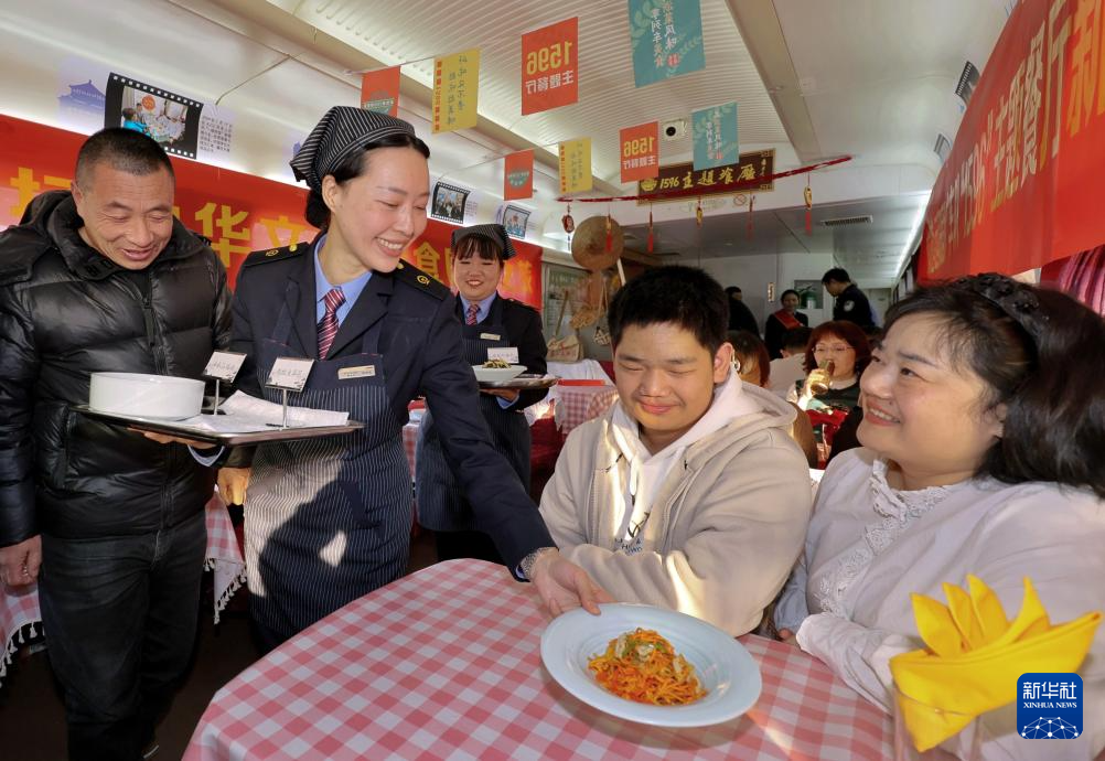
{"type": "Polygon", "coordinates": [[[759,666],[739,642],[652,605],[577,609],[541,635],[541,660],[571,695],[612,716],[659,727],[728,721],[756,704],[759,666]]]}

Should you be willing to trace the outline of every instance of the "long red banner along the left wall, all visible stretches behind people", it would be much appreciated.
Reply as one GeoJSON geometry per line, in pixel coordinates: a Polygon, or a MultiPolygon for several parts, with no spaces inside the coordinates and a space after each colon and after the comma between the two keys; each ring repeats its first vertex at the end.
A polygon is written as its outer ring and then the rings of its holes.
{"type": "MultiPolygon", "coordinates": [[[[28,202],[45,190],[69,188],[76,152],[86,136],[0,115],[0,229],[18,224],[28,202]]],[[[197,161],[173,159],[173,213],[189,230],[211,239],[231,284],[253,251],[309,242],[317,231],[303,219],[305,188],[264,180],[197,161]]],[[[449,240],[455,228],[430,220],[404,258],[451,284],[449,240]]],[[[506,264],[499,292],[541,308],[541,249],[514,241],[518,255],[506,264]]]]}

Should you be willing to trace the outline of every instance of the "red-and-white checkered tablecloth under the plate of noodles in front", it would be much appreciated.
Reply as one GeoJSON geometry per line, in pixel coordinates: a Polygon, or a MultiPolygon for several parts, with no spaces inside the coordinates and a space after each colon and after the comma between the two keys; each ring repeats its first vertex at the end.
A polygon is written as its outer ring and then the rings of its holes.
{"type": "Polygon", "coordinates": [[[601,714],[540,660],[528,584],[478,560],[432,566],[357,600],[219,690],[189,761],[788,759],[892,754],[888,717],[796,647],[741,638],[764,691],[747,715],[672,730],[601,714]]]}

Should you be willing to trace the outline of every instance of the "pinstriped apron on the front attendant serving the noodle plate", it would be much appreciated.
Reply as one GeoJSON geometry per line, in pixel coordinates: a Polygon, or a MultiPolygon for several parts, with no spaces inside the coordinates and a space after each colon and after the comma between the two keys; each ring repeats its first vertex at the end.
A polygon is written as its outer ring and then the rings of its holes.
{"type": "MultiPolygon", "coordinates": [[[[391,413],[378,353],[378,320],[364,353],[318,360],[298,406],[348,412],[357,433],[262,445],[245,503],[245,562],[251,614],[291,636],[348,602],[398,579],[410,552],[411,480],[401,425],[391,413]],[[357,368],[360,377],[339,377],[357,368]],[[368,370],[371,368],[371,370],[368,370]],[[367,376],[366,373],[373,374],[367,376]]],[[[257,347],[262,378],[287,346],[284,305],[271,339],[257,347]]],[[[281,392],[265,389],[269,401],[281,392]]]]}

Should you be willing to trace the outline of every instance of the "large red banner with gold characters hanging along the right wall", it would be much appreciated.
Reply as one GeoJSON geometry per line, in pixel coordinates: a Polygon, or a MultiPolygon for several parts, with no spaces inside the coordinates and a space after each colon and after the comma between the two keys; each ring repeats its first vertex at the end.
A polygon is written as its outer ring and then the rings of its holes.
{"type": "Polygon", "coordinates": [[[925,216],[920,279],[1015,274],[1105,242],[1105,7],[1022,0],[925,216]]]}

